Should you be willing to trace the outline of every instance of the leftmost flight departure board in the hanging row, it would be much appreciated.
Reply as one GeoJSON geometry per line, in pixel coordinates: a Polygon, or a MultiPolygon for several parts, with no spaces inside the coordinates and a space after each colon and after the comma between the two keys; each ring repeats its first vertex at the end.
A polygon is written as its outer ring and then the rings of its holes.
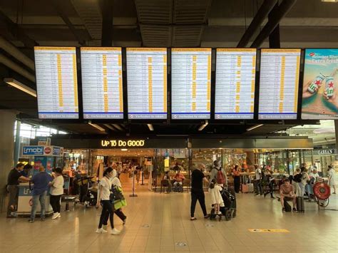
{"type": "Polygon", "coordinates": [[[35,46],[39,118],[78,118],[75,47],[35,46]]]}

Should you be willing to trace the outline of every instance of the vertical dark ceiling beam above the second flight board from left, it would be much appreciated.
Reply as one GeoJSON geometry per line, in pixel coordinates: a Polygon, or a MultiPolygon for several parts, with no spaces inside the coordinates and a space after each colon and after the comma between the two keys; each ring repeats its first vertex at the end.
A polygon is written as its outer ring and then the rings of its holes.
{"type": "Polygon", "coordinates": [[[113,43],[113,6],[114,1],[102,0],[101,46],[112,46],[113,43]]]}

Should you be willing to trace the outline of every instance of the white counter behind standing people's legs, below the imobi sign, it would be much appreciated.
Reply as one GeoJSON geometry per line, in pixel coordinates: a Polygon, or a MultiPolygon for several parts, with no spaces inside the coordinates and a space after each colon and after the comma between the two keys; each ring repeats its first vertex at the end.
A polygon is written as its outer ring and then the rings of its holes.
{"type": "MultiPolygon", "coordinates": [[[[32,187],[33,185],[31,185],[32,187]]],[[[49,194],[46,196],[46,215],[51,215],[53,210],[51,205],[49,205],[49,194]]],[[[29,183],[24,182],[19,185],[19,200],[18,200],[18,210],[16,211],[17,215],[30,215],[31,207],[33,205],[33,198],[31,195],[31,190],[29,190],[29,183]]],[[[41,206],[40,202],[36,208],[36,215],[40,215],[41,206]]]]}

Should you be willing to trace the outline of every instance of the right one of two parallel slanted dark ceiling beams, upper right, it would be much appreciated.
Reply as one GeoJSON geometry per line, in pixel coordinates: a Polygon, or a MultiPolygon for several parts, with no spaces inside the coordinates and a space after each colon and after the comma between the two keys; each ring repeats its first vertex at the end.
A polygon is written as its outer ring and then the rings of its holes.
{"type": "Polygon", "coordinates": [[[292,6],[296,4],[297,0],[284,0],[278,6],[278,9],[276,10],[274,16],[267,21],[267,24],[264,26],[262,31],[260,31],[260,34],[258,34],[257,38],[254,42],[252,42],[251,48],[259,48],[260,45],[265,41],[265,39],[272,33],[272,31],[275,30],[276,26],[280,24],[280,21],[283,19],[283,17],[292,9],[292,6]]]}

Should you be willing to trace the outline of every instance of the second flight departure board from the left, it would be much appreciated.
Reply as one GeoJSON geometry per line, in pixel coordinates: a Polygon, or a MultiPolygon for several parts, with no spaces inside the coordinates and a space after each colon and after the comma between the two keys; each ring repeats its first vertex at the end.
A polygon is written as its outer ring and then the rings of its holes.
{"type": "Polygon", "coordinates": [[[83,118],[123,119],[121,48],[81,48],[83,118]]]}

